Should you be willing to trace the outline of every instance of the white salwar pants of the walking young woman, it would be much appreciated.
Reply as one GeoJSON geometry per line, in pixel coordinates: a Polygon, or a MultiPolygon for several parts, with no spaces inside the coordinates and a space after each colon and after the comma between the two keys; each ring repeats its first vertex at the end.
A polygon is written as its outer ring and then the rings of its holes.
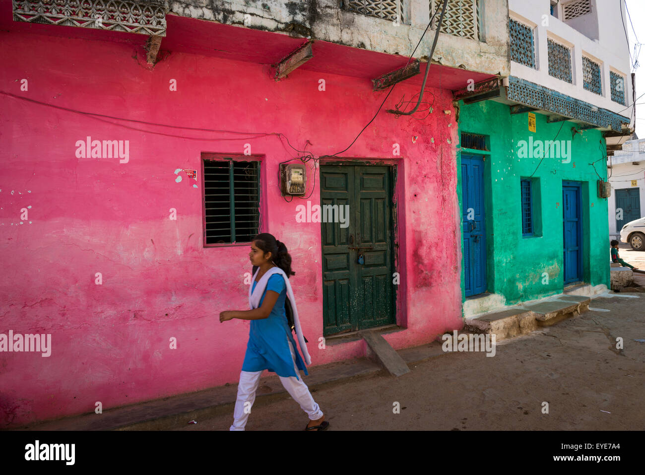
{"type": "MultiPolygon", "coordinates": [[[[293,368],[296,374],[300,374],[295,364],[293,345],[291,341],[288,343],[292,359],[294,360],[293,368]]],[[[233,410],[233,425],[230,427],[230,430],[244,430],[248,414],[250,414],[253,402],[255,402],[255,391],[260,383],[261,374],[262,371],[242,371],[240,373],[240,382],[237,385],[237,401],[235,401],[235,410],[233,410]]],[[[299,403],[301,409],[307,413],[312,421],[323,417],[323,411],[318,407],[316,401],[313,400],[312,394],[309,392],[307,385],[304,384],[302,377],[297,379],[295,376],[289,376],[288,378],[279,376],[279,378],[280,382],[283,383],[284,389],[299,403]]]]}

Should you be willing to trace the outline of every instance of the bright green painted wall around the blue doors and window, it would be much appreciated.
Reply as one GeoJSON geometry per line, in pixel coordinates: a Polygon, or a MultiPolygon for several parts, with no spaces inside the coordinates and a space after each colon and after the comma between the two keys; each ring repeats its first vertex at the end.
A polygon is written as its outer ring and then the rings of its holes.
{"type": "MultiPolygon", "coordinates": [[[[484,152],[484,193],[486,197],[486,239],[488,292],[502,294],[506,304],[543,298],[564,290],[562,236],[562,181],[581,182],[582,274],[584,283],[609,286],[609,234],[607,200],[597,197],[597,180],[607,178],[605,141],[599,130],[584,130],[572,138],[575,123],[547,123],[547,116],[535,114],[536,132],[528,129],[528,114],[510,114],[510,107],[494,101],[460,103],[459,132],[490,137],[490,154],[484,152]],[[560,131],[560,132],[559,132],[560,131]],[[520,141],[557,140],[570,142],[571,161],[564,157],[519,157],[520,141]],[[595,163],[595,170],[590,163],[595,163]],[[534,221],[541,236],[522,237],[520,179],[533,174],[534,221]],[[539,183],[539,186],[535,186],[539,183]],[[537,201],[537,203],[536,203],[537,201]],[[541,212],[538,214],[537,211],[541,212]],[[543,274],[548,284],[543,284],[543,274]]],[[[481,153],[463,149],[462,152],[481,153]]],[[[552,149],[555,152],[555,148],[552,149]]],[[[461,154],[457,164],[461,205],[461,154]]],[[[462,267],[462,297],[464,294],[462,267]]]]}

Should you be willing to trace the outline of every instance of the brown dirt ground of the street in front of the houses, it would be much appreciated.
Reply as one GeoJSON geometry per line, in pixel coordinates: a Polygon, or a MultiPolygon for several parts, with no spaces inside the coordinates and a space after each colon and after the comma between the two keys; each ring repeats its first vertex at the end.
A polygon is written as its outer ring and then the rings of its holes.
{"type": "MultiPolygon", "coordinates": [[[[635,263],[629,251],[620,254],[635,263]]],[[[645,252],[635,254],[645,268],[645,252]]],[[[643,430],[645,343],[635,340],[645,339],[645,294],[596,298],[590,308],[499,343],[493,357],[446,353],[412,365],[400,378],[339,383],[313,398],[328,430],[643,430]]],[[[228,430],[232,410],[197,422],[174,430],[228,430]]],[[[307,422],[286,396],[256,401],[246,429],[303,430],[307,422]]]]}

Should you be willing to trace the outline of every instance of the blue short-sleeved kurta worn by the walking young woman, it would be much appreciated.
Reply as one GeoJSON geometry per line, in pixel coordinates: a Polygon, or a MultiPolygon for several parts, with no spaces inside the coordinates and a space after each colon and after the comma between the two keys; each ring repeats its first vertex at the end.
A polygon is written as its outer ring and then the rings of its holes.
{"type": "MultiPolygon", "coordinates": [[[[251,292],[255,290],[256,283],[253,281],[251,292]]],[[[293,339],[293,334],[284,312],[284,301],[287,297],[283,276],[274,274],[268,279],[266,289],[264,289],[264,294],[260,299],[260,307],[264,297],[266,297],[267,290],[273,290],[273,292],[279,293],[280,296],[275,305],[273,305],[268,318],[251,320],[242,370],[253,372],[268,369],[284,378],[295,376],[300,379],[299,374],[293,368],[293,358],[289,350],[288,341],[291,341],[293,345],[298,369],[304,370],[304,374],[309,373],[295,344],[295,339],[293,339]]]]}

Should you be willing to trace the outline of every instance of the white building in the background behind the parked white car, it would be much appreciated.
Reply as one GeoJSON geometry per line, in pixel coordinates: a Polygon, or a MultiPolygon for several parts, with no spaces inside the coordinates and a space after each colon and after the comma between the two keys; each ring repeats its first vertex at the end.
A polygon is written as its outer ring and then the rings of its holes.
{"type": "Polygon", "coordinates": [[[623,225],[645,216],[645,139],[626,141],[622,150],[608,158],[607,167],[611,183],[609,232],[618,236],[623,225]]]}

